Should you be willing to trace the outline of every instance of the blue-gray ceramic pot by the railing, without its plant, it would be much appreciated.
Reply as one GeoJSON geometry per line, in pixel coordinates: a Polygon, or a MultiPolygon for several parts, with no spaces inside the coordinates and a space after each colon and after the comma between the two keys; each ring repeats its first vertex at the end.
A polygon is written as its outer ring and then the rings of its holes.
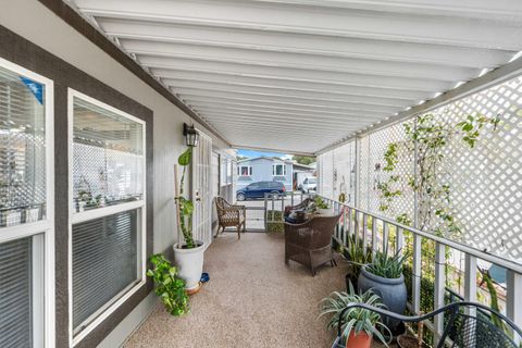
{"type": "MultiPolygon", "coordinates": [[[[406,310],[406,302],[408,300],[408,293],[405,284],[405,276],[395,279],[384,278],[382,276],[368,272],[366,265],[361,268],[361,274],[357,281],[359,291],[366,291],[373,289],[373,291],[381,297],[383,303],[389,311],[403,314],[406,310]]],[[[385,324],[389,330],[395,331],[400,321],[389,320],[383,318],[385,324]]]]}

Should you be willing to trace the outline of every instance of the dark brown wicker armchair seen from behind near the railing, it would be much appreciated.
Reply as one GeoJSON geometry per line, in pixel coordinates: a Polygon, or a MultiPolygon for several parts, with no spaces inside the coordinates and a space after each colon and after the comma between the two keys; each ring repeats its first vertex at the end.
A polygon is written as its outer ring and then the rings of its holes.
{"type": "Polygon", "coordinates": [[[285,223],[285,263],[294,260],[308,265],[312,275],[318,266],[330,262],[337,265],[332,251],[332,235],[340,214],[316,215],[302,224],[285,223]]]}

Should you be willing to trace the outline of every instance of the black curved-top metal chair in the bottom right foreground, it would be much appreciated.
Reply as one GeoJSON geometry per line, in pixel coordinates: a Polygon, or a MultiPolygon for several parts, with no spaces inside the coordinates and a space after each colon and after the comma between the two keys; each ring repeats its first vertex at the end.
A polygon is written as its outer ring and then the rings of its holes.
{"type": "Polygon", "coordinates": [[[522,331],[510,319],[481,303],[455,302],[428,314],[418,316],[405,316],[364,303],[351,303],[339,313],[337,338],[332,348],[346,347],[340,338],[344,324],[340,319],[350,308],[368,309],[383,316],[410,323],[433,320],[437,314],[444,313],[445,327],[437,348],[519,348],[518,341],[522,339],[522,331]],[[504,326],[504,328],[500,328],[500,326],[504,326]]]}

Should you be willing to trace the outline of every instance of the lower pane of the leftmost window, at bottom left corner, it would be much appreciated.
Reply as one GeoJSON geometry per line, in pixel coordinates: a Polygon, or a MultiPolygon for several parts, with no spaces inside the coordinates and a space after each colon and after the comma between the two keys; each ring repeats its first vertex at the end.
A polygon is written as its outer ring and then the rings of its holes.
{"type": "Polygon", "coordinates": [[[33,347],[32,238],[0,244],[0,347],[33,347]]]}

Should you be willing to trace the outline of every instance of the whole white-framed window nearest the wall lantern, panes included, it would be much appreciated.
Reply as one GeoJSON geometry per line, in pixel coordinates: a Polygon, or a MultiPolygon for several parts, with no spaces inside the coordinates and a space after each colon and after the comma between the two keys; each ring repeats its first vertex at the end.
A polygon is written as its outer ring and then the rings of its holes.
{"type": "Polygon", "coordinates": [[[73,345],[145,283],[145,122],[70,89],[73,345]]]}

